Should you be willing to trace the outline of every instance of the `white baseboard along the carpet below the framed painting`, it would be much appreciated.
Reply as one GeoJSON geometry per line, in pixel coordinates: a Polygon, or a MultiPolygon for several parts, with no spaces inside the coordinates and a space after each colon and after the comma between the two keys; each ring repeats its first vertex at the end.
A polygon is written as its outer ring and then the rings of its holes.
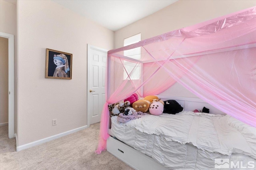
{"type": "Polygon", "coordinates": [[[81,131],[83,129],[86,129],[88,126],[82,126],[82,127],[78,127],[76,129],[73,129],[73,130],[70,130],[70,131],[66,131],[66,132],[63,132],[63,133],[59,133],[57,135],[53,135],[51,137],[46,137],[44,139],[40,139],[38,141],[34,141],[34,142],[31,142],[31,143],[27,143],[25,145],[21,145],[21,146],[18,146],[16,147],[16,150],[17,151],[20,151],[20,150],[23,150],[23,149],[27,149],[27,148],[30,148],[30,147],[34,147],[36,145],[39,145],[39,144],[42,144],[42,143],[45,143],[45,142],[48,142],[48,141],[52,141],[54,139],[58,139],[60,137],[63,137],[63,136],[66,136],[66,135],[69,135],[71,133],[75,133],[77,131],[81,131]]]}

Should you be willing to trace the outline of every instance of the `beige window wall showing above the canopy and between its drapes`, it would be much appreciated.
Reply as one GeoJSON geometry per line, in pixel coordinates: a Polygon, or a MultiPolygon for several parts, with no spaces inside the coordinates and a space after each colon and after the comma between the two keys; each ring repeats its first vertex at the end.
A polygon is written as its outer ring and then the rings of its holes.
{"type": "MultiPolygon", "coordinates": [[[[115,48],[124,45],[124,38],[141,33],[147,39],[176,29],[211,20],[232,12],[256,6],[256,0],[179,0],[174,4],[115,32],[115,48]]],[[[166,94],[196,97],[178,83],[166,94]]]]}

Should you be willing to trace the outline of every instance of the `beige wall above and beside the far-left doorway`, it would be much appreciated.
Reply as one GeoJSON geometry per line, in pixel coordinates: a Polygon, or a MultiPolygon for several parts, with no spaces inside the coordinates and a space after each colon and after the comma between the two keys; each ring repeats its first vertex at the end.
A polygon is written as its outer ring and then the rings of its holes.
{"type": "MultiPolygon", "coordinates": [[[[16,75],[16,54],[17,54],[17,12],[16,4],[10,1],[0,0],[0,32],[14,35],[14,74],[16,75]]],[[[14,84],[14,91],[17,92],[17,82],[14,84]]],[[[14,133],[17,133],[17,98],[14,95],[14,133]]]]}

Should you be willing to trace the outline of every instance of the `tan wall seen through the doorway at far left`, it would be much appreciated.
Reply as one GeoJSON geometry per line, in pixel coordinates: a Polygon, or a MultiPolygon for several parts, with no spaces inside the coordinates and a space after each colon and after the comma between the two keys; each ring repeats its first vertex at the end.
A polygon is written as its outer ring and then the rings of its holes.
{"type": "Polygon", "coordinates": [[[0,123],[8,122],[8,39],[0,37],[0,123]]]}

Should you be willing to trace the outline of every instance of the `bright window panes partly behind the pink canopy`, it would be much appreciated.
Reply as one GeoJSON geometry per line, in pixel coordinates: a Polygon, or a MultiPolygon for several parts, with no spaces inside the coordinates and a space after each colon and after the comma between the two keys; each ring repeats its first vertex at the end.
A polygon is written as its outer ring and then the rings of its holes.
{"type": "MultiPolygon", "coordinates": [[[[138,33],[136,35],[132,35],[132,36],[124,39],[124,46],[138,43],[140,40],[141,40],[140,33],[138,33]]],[[[125,50],[124,56],[140,60],[140,57],[141,57],[140,56],[140,47],[135,48],[135,49],[125,50]]],[[[140,63],[124,61],[124,68],[125,68],[124,69],[124,80],[126,80],[126,78],[128,78],[127,74],[130,75],[130,78],[132,80],[140,79],[140,71],[141,71],[140,63]],[[131,72],[132,72],[132,74],[130,74],[131,72]]]]}

